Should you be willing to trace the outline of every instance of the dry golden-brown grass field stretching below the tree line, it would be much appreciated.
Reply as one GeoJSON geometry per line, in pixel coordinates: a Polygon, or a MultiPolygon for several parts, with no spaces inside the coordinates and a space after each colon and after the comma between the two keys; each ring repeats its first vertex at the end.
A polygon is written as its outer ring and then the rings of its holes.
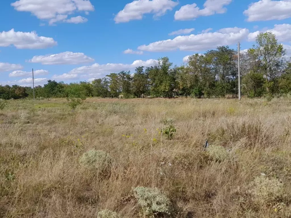
{"type": "Polygon", "coordinates": [[[66,99],[8,104],[0,217],[291,217],[290,99],[88,98],[75,112],[66,99]],[[106,171],[81,165],[92,149],[110,156],[106,171]],[[142,213],[139,186],[157,187],[169,214],[142,213]]]}

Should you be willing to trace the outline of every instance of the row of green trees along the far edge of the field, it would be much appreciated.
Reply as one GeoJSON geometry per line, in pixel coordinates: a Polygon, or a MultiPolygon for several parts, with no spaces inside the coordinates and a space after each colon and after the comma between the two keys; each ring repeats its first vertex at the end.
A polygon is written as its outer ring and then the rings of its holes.
{"type": "MultiPolygon", "coordinates": [[[[89,82],[70,83],[49,80],[35,87],[36,97],[236,97],[238,94],[237,50],[220,46],[189,57],[187,64],[173,66],[169,58],[158,59],[155,66],[137,67],[111,73],[89,82]]],[[[253,47],[241,53],[241,90],[247,97],[291,93],[291,58],[271,33],[260,33],[253,47]]],[[[0,99],[32,97],[31,87],[0,86],[0,99]]]]}

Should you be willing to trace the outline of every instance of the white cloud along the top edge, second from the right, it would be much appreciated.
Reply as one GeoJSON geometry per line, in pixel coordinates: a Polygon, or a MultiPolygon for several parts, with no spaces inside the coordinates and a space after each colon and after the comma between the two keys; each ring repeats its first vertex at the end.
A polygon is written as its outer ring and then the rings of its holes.
{"type": "Polygon", "coordinates": [[[229,5],[232,0],[206,0],[204,8],[200,9],[196,3],[182,6],[175,12],[175,20],[191,20],[200,16],[210,16],[217,14],[223,14],[226,12],[224,6],[229,5]]]}

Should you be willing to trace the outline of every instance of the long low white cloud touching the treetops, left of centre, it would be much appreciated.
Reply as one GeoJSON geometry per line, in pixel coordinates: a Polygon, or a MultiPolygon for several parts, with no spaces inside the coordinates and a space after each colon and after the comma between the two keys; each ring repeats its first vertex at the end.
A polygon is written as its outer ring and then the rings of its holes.
{"type": "Polygon", "coordinates": [[[157,60],[135,60],[132,64],[93,64],[90,66],[83,66],[83,67],[77,67],[75,69],[72,69],[69,74],[89,74],[91,77],[102,77],[106,74],[110,73],[117,73],[120,71],[133,71],[136,67],[150,67],[155,66],[157,64],[157,60]]]}

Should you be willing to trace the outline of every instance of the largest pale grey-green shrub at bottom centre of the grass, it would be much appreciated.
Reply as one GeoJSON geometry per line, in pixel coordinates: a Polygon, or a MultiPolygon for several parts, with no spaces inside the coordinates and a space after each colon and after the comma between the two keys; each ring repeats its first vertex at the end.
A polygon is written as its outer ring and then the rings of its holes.
{"type": "Polygon", "coordinates": [[[134,196],[138,200],[143,216],[152,217],[155,213],[170,214],[170,201],[159,189],[136,187],[134,196]]]}

